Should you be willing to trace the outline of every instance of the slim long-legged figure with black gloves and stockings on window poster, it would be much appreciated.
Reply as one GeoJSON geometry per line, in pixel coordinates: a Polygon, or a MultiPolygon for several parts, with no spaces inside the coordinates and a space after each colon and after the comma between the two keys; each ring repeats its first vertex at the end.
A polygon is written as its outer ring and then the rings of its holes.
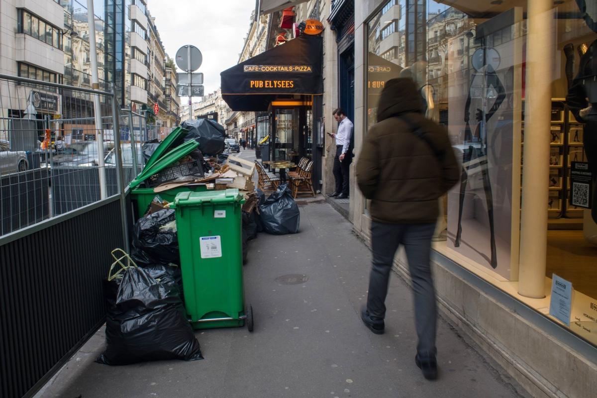
{"type": "MultiPolygon", "coordinates": [[[[487,122],[497,112],[501,103],[506,98],[506,90],[498,78],[496,69],[499,66],[500,57],[496,50],[490,47],[481,47],[475,51],[472,56],[472,65],[475,68],[475,73],[472,75],[470,82],[469,95],[466,100],[464,109],[464,123],[466,124],[464,132],[464,143],[473,143],[478,141],[481,146],[475,147],[469,145],[467,150],[463,153],[463,168],[460,180],[460,200],[458,202],[458,230],[456,232],[456,239],[454,240],[454,247],[460,246],[460,239],[462,236],[462,214],[464,207],[464,196],[466,193],[466,186],[468,183],[468,172],[472,168],[480,168],[483,180],[483,187],[485,190],[485,203],[487,204],[487,215],[490,224],[490,245],[491,258],[490,264],[494,269],[497,267],[497,253],[496,253],[496,233],[494,228],[493,218],[493,193],[491,192],[491,181],[489,177],[489,148],[487,140],[487,122]],[[491,104],[493,101],[493,104],[491,104]],[[489,105],[491,104],[491,107],[489,105]],[[470,109],[476,109],[475,112],[475,137],[473,137],[472,129],[470,128],[470,109]],[[489,108],[489,109],[488,109],[489,108]],[[474,140],[473,140],[474,138],[474,140]]],[[[474,123],[474,122],[473,122],[474,123]]]]}

